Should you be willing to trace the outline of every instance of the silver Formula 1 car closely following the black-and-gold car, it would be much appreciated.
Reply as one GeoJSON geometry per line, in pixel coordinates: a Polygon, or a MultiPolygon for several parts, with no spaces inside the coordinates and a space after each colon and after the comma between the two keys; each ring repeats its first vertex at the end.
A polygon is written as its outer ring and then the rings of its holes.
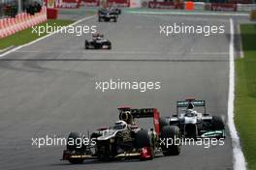
{"type": "Polygon", "coordinates": [[[160,125],[177,126],[184,138],[225,138],[223,120],[219,116],[210,116],[207,113],[205,100],[176,101],[176,114],[160,118],[160,125]],[[197,112],[194,107],[204,107],[204,113],[197,112]]]}

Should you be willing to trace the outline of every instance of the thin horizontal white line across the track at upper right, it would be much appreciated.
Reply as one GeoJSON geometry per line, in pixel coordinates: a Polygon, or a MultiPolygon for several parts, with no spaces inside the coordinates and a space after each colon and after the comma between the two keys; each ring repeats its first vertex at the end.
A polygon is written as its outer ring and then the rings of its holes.
{"type": "Polygon", "coordinates": [[[234,14],[234,13],[199,13],[199,12],[193,12],[193,13],[186,13],[186,12],[127,12],[131,14],[177,14],[177,15],[225,15],[225,16],[248,16],[249,14],[234,14]]]}

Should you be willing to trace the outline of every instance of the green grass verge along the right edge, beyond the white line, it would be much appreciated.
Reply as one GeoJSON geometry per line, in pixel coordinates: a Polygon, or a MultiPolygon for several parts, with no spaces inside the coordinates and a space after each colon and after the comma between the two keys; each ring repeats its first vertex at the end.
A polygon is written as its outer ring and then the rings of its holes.
{"type": "Polygon", "coordinates": [[[236,61],[235,122],[248,168],[256,169],[256,24],[240,25],[244,58],[236,61]]]}

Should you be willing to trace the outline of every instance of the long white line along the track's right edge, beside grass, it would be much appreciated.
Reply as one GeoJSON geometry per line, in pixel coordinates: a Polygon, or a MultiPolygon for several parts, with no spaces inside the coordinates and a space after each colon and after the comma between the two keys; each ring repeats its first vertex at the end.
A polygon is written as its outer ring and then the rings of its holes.
{"type": "Polygon", "coordinates": [[[235,101],[235,61],[234,61],[234,23],[230,18],[230,66],[229,66],[229,100],[228,100],[228,126],[232,139],[234,170],[246,170],[245,158],[240,149],[240,137],[234,123],[235,101]]]}

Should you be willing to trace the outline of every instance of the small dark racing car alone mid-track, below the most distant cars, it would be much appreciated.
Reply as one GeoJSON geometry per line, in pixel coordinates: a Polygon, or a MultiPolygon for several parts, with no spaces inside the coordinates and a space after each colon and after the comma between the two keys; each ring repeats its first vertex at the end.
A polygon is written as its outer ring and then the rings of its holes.
{"type": "Polygon", "coordinates": [[[92,35],[92,40],[85,40],[85,49],[112,49],[112,42],[104,39],[104,35],[96,33],[92,35]]]}

